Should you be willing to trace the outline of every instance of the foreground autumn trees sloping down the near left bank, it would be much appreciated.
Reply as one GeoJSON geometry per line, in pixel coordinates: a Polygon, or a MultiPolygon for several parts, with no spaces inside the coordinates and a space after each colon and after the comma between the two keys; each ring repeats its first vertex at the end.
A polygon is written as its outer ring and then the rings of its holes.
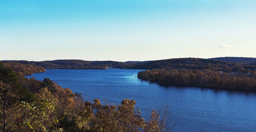
{"type": "MultiPolygon", "coordinates": [[[[168,131],[166,116],[145,120],[136,101],[119,106],[84,101],[49,78],[28,79],[0,61],[1,131],[168,131]]],[[[149,114],[150,115],[150,114],[149,114]]]]}

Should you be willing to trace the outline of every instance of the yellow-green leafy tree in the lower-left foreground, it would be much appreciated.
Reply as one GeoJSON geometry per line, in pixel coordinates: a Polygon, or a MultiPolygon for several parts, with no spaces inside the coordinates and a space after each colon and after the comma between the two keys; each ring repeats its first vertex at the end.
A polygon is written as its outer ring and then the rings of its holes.
{"type": "Polygon", "coordinates": [[[47,88],[36,93],[37,101],[34,103],[22,102],[25,108],[23,115],[28,118],[25,122],[27,129],[33,131],[48,131],[49,126],[58,123],[55,116],[56,98],[47,88]]]}

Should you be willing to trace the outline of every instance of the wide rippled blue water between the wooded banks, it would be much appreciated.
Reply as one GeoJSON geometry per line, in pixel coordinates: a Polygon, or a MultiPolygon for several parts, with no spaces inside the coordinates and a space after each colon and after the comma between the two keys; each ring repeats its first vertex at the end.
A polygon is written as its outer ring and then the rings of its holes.
{"type": "Polygon", "coordinates": [[[50,78],[86,100],[99,98],[114,104],[135,99],[143,117],[169,106],[173,131],[256,131],[256,94],[216,91],[197,87],[163,87],[138,79],[143,70],[48,69],[27,77],[50,78]]]}

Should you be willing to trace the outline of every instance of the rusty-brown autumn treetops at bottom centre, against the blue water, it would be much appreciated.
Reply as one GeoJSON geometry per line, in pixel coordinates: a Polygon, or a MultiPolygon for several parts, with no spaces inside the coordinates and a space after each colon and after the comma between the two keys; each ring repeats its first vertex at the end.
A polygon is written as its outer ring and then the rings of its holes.
{"type": "Polygon", "coordinates": [[[79,128],[92,131],[140,131],[146,124],[145,119],[135,111],[135,104],[135,100],[124,99],[117,109],[114,105],[103,106],[99,99],[95,99],[94,104],[87,102],[87,107],[78,119],[79,128]]]}

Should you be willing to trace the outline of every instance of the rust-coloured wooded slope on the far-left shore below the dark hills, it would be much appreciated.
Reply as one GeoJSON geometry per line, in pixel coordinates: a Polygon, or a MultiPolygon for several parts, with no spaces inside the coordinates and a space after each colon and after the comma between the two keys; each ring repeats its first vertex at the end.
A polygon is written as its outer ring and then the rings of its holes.
{"type": "Polygon", "coordinates": [[[32,64],[4,62],[4,65],[22,75],[31,75],[33,73],[41,73],[46,71],[45,68],[39,67],[38,65],[32,65],[32,64]]]}

